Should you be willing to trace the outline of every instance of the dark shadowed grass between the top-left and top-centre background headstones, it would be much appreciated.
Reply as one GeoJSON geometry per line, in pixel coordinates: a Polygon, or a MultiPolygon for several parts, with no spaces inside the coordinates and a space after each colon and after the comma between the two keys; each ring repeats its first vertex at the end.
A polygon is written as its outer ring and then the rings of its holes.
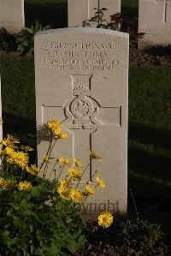
{"type": "Polygon", "coordinates": [[[26,27],[34,21],[42,25],[50,25],[52,28],[68,27],[68,6],[67,3],[25,3],[26,27]]]}

